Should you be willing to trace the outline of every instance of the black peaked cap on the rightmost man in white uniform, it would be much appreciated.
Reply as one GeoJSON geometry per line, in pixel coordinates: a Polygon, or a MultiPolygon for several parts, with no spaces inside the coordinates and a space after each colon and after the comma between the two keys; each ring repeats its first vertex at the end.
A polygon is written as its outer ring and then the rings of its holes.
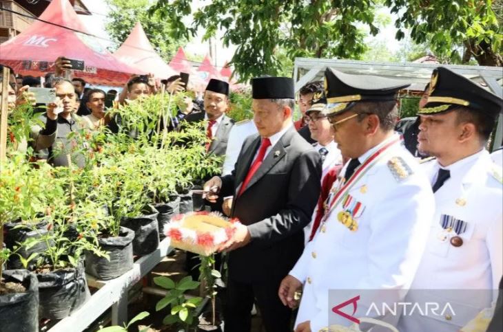
{"type": "Polygon", "coordinates": [[[438,67],[431,74],[428,101],[418,113],[436,114],[464,106],[495,115],[502,111],[502,102],[502,98],[469,78],[438,67]]]}

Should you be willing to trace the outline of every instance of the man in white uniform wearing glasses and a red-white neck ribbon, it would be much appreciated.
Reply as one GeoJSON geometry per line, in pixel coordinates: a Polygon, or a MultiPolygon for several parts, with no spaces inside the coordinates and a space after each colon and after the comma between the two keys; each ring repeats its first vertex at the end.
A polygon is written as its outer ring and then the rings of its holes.
{"type": "MultiPolygon", "coordinates": [[[[403,296],[415,274],[433,217],[433,192],[413,156],[393,133],[396,96],[409,84],[327,69],[327,111],[342,155],[351,158],[327,199],[325,217],[278,295],[294,307],[304,284],[296,332],[352,321],[331,312],[349,298],[334,289],[387,289],[403,296]]],[[[347,294],[346,294],[347,295],[347,294]]],[[[365,316],[362,299],[353,317],[365,316]]]]}

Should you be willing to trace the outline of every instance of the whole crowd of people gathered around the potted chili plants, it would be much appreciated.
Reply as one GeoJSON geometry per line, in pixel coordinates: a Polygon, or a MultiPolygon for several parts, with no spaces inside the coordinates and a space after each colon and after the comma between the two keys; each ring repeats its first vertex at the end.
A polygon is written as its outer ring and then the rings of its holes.
{"type": "MultiPolygon", "coordinates": [[[[54,166],[68,166],[53,150],[70,146],[73,131],[119,130],[121,119],[107,108],[187,89],[180,76],[149,75],[105,92],[63,78],[63,57],[56,68],[45,82],[11,71],[9,87],[11,109],[33,102],[28,87],[55,89],[57,101],[43,109],[29,140],[54,166]]],[[[209,80],[203,96],[179,105],[170,130],[203,122],[207,153],[224,159],[221,175],[205,179],[209,208],[240,221],[221,248],[228,254],[226,332],[250,331],[254,305],[268,332],[291,331],[292,321],[296,332],[348,326],[347,316],[364,317],[370,300],[362,297],[346,316],[334,317],[333,306],[362,289],[381,291],[385,302],[451,301],[462,310],[455,318],[373,316],[400,331],[501,330],[501,315],[490,322],[494,310],[501,313],[497,293],[467,298],[442,290],[491,291],[502,279],[502,155],[486,150],[502,99],[438,67],[418,117],[397,124],[398,91],[408,86],[327,69],[325,82],[309,82],[298,98],[291,78],[251,80],[252,120],[229,118],[222,80],[209,80]],[[296,103],[302,116],[294,122],[296,103]]]]}

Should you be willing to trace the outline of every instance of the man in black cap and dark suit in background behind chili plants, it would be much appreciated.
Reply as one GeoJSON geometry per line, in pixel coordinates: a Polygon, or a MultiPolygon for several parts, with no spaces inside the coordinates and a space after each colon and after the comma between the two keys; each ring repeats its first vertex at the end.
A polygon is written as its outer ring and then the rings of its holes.
{"type": "Polygon", "coordinates": [[[206,120],[206,137],[209,140],[206,151],[223,156],[227,149],[229,132],[234,126],[234,120],[225,115],[229,109],[229,83],[214,78],[209,80],[204,104],[204,112],[191,113],[185,117],[185,121],[201,122],[206,120]]]}

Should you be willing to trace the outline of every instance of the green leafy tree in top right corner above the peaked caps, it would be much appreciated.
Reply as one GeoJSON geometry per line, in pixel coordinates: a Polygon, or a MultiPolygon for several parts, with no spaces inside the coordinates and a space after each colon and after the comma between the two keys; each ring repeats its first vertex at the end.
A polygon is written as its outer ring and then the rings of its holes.
{"type": "Polygon", "coordinates": [[[503,66],[501,52],[502,0],[385,0],[395,22],[398,40],[410,30],[415,43],[427,43],[433,54],[451,62],[503,66]],[[497,14],[499,16],[497,16],[497,14]]]}

